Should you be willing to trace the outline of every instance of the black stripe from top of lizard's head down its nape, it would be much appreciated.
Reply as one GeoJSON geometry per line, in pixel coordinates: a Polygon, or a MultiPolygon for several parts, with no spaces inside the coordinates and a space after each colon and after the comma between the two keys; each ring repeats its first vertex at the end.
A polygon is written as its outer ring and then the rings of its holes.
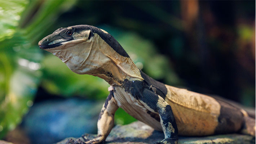
{"type": "Polygon", "coordinates": [[[101,39],[103,39],[112,49],[114,49],[118,54],[122,55],[123,57],[128,57],[129,55],[126,53],[124,48],[118,43],[118,41],[109,33],[103,32],[100,28],[89,26],[89,25],[77,25],[72,26],[72,28],[76,28],[76,32],[83,31],[83,30],[91,30],[94,33],[97,33],[101,39]]]}

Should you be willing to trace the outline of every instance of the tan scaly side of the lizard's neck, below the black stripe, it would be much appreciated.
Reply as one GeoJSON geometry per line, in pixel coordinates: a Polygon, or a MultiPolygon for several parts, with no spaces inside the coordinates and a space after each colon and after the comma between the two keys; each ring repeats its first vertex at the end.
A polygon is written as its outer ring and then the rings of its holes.
{"type": "Polygon", "coordinates": [[[102,41],[97,33],[94,38],[97,41],[94,41],[91,53],[95,53],[93,59],[97,56],[99,62],[97,68],[94,68],[93,73],[88,73],[89,75],[103,78],[110,85],[121,85],[125,79],[143,80],[140,69],[129,56],[125,57],[117,53],[105,41],[102,41]]]}

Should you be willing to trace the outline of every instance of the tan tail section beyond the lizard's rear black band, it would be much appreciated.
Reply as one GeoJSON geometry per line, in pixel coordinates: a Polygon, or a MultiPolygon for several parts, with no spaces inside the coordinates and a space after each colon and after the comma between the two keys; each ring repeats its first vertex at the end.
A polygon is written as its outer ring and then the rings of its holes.
{"type": "Polygon", "coordinates": [[[240,133],[255,136],[255,118],[244,116],[243,120],[243,126],[240,133]]]}

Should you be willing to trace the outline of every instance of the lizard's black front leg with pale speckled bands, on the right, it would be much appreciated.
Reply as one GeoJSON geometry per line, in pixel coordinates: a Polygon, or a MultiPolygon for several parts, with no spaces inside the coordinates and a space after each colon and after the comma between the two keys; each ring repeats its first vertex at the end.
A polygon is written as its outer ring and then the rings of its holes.
{"type": "Polygon", "coordinates": [[[178,128],[171,106],[153,91],[144,89],[141,103],[151,112],[158,113],[164,132],[164,139],[155,144],[177,144],[178,128]]]}

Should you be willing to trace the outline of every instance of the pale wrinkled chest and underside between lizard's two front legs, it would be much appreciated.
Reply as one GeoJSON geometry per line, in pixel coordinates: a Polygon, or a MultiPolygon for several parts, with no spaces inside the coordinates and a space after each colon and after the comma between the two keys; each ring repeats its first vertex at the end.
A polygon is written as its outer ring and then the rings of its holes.
{"type": "Polygon", "coordinates": [[[148,111],[139,100],[126,92],[122,87],[115,87],[114,98],[117,105],[137,120],[146,123],[153,129],[162,131],[159,115],[148,111]]]}

